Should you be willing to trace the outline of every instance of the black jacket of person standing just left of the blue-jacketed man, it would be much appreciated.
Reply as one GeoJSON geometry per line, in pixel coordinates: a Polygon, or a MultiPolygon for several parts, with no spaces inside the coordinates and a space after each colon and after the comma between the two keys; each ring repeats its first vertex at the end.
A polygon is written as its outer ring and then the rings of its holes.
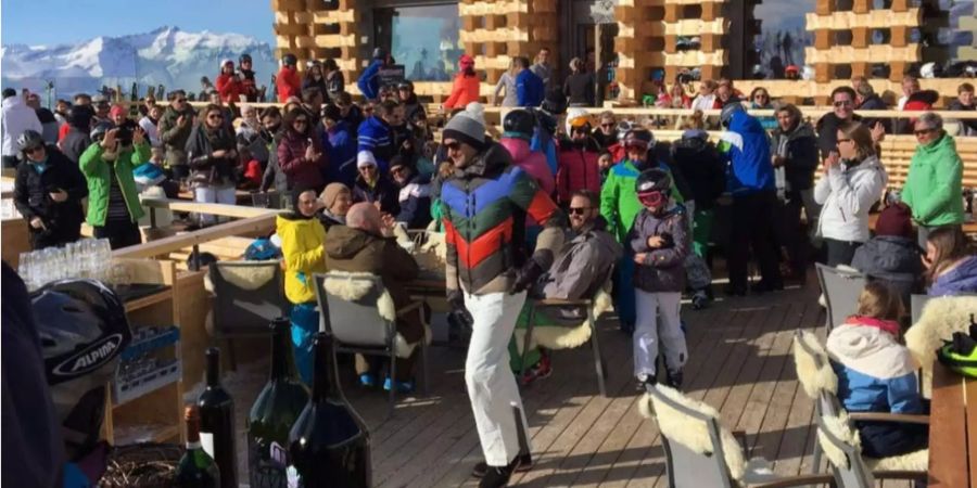
{"type": "MultiPolygon", "coordinates": [[[[726,189],[725,163],[715,145],[701,138],[681,139],[672,143],[672,162],[688,185],[696,208],[711,209],[726,189]]],[[[676,180],[677,183],[677,180],[676,180]]]]}

